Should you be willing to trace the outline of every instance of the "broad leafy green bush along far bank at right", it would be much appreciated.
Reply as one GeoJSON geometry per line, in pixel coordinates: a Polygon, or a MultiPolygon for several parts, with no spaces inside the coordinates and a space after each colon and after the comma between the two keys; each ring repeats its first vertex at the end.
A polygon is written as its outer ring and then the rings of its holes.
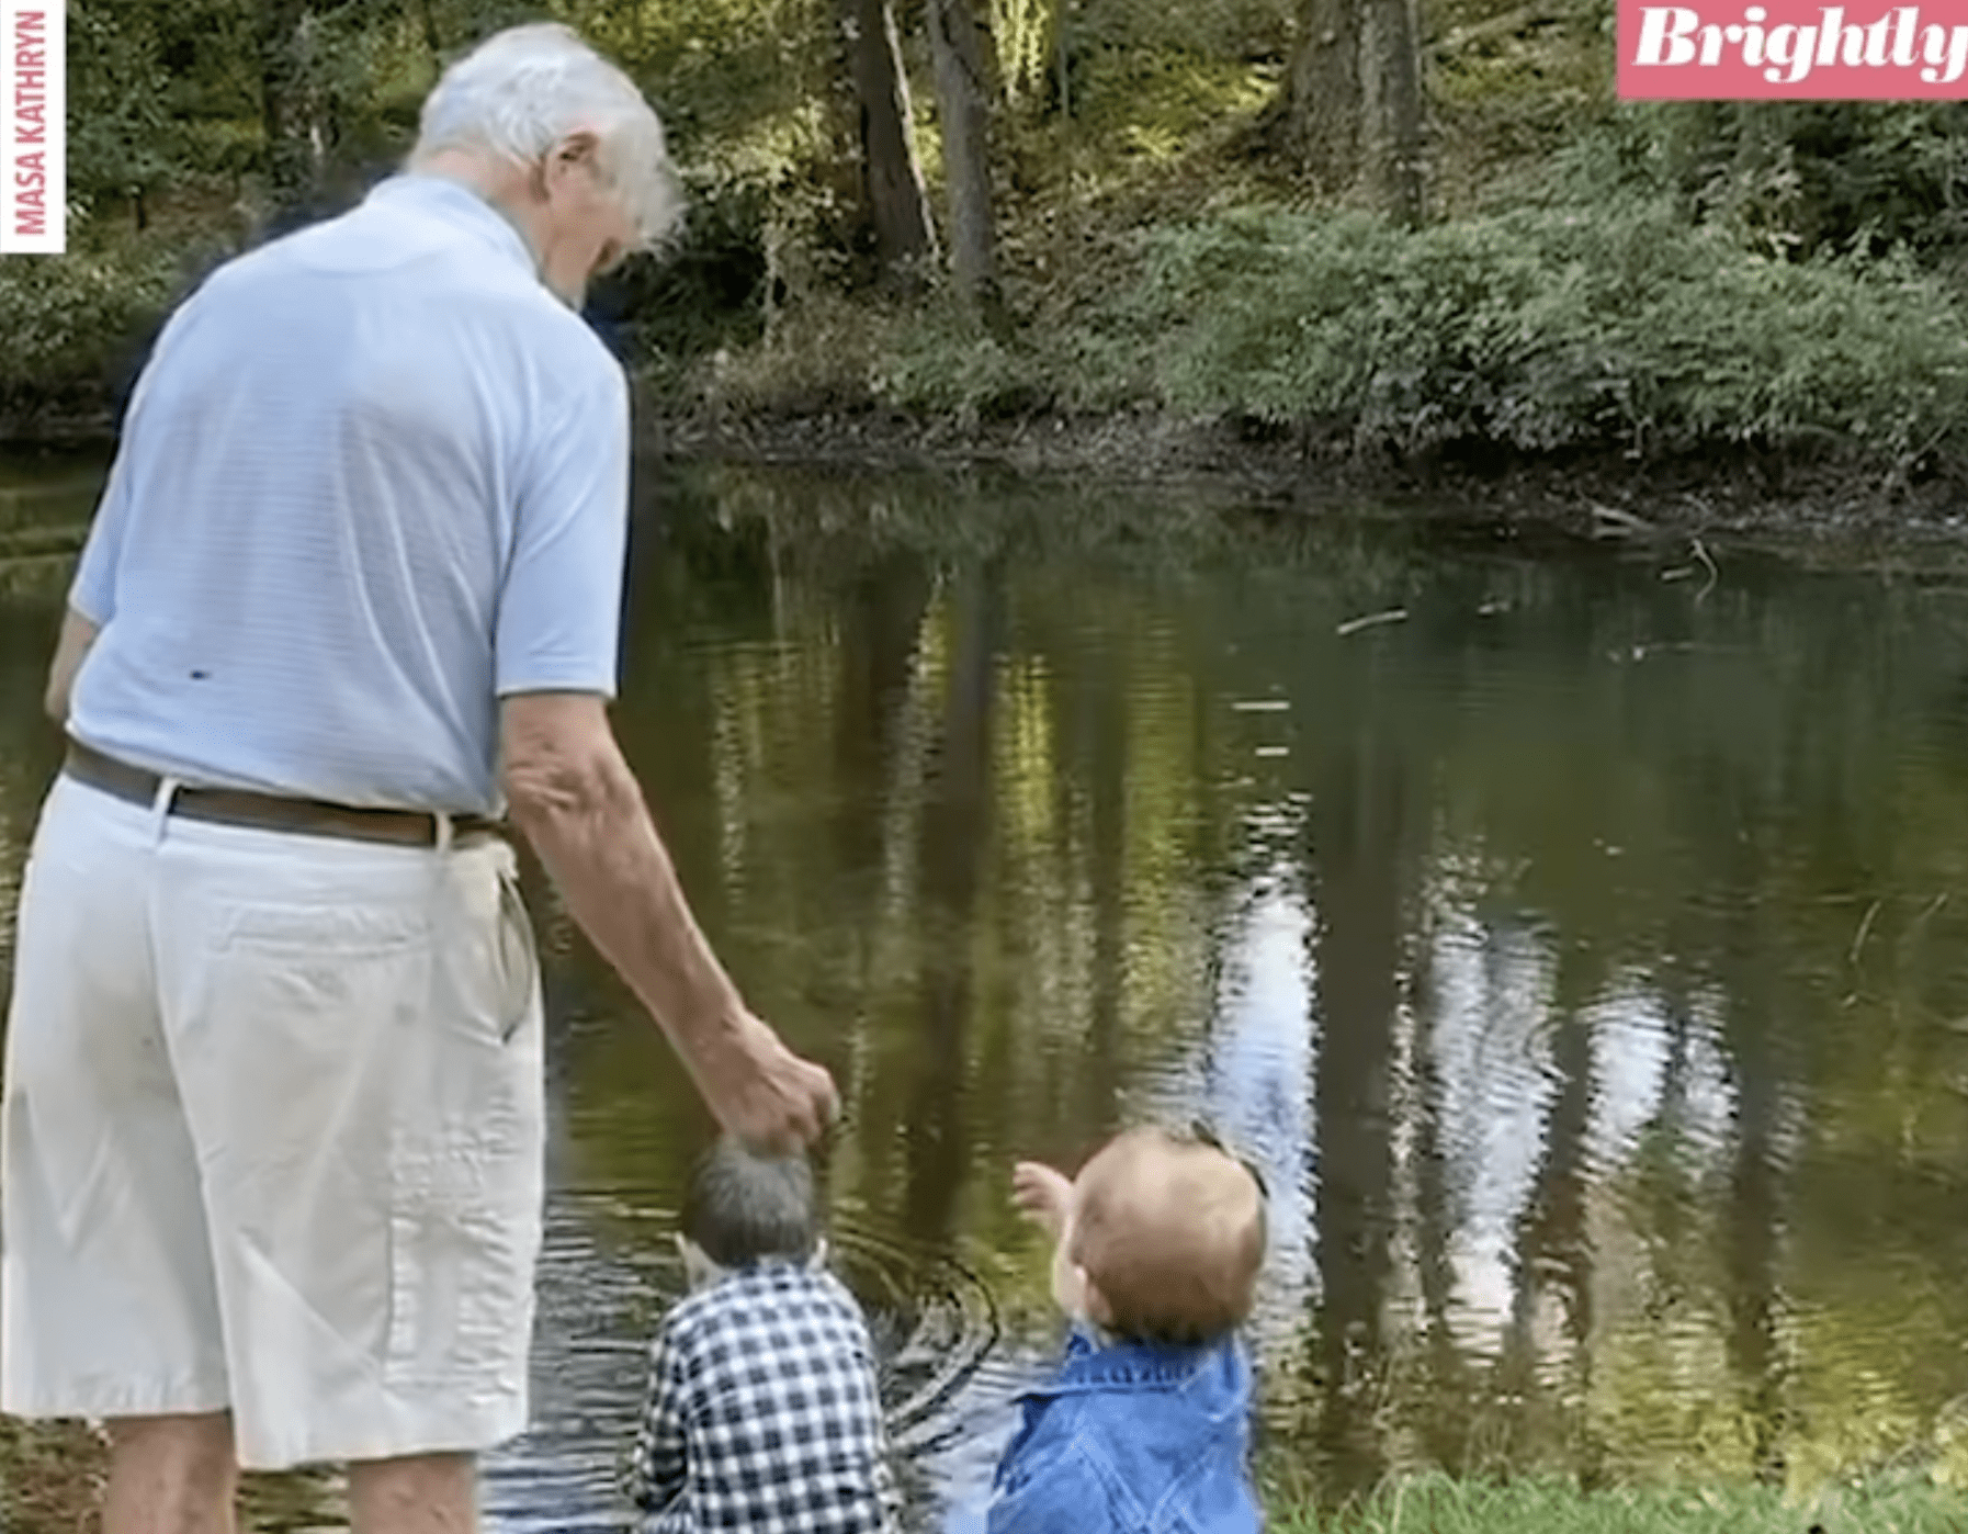
{"type": "Polygon", "coordinates": [[[1403,453],[1842,443],[1903,463],[1968,406],[1960,303],[1903,258],[1777,262],[1661,203],[1403,234],[1246,215],[1145,240],[1102,317],[1161,398],[1403,453]]]}

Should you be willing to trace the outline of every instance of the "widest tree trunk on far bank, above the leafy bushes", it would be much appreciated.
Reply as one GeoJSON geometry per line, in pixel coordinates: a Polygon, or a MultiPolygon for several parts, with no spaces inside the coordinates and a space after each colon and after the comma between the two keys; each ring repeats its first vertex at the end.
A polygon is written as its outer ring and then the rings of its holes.
{"type": "Polygon", "coordinates": [[[1285,144],[1322,191],[1364,189],[1415,226],[1427,213],[1415,0],[1305,0],[1285,144]]]}

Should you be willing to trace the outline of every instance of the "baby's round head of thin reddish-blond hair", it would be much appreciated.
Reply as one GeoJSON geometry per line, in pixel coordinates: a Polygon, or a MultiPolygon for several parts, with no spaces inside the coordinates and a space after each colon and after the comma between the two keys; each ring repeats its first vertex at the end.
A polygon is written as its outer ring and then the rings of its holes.
{"type": "Polygon", "coordinates": [[[1173,1343],[1250,1315],[1263,1264],[1263,1193],[1220,1148],[1159,1128],[1110,1140],[1075,1182],[1067,1256],[1110,1331],[1173,1343]]]}

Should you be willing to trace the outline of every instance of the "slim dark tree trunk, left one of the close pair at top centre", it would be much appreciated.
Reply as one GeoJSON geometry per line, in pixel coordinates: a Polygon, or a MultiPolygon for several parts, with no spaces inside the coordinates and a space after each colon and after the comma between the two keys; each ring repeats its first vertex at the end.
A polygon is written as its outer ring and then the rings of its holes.
{"type": "Polygon", "coordinates": [[[909,266],[935,254],[923,171],[909,138],[909,79],[901,73],[901,43],[890,0],[838,0],[840,35],[854,79],[856,148],[862,201],[874,223],[886,278],[907,278],[909,266]]]}

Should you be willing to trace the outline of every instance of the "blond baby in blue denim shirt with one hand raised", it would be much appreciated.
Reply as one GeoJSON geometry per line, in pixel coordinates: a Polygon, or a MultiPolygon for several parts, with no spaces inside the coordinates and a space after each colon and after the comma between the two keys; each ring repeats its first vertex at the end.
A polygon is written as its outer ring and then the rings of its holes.
{"type": "Polygon", "coordinates": [[[1067,1357],[1021,1396],[990,1534],[1254,1534],[1250,1361],[1236,1327],[1263,1262],[1263,1187],[1222,1148],[1138,1128],[1073,1182],[1012,1176],[1055,1241],[1067,1357]]]}

